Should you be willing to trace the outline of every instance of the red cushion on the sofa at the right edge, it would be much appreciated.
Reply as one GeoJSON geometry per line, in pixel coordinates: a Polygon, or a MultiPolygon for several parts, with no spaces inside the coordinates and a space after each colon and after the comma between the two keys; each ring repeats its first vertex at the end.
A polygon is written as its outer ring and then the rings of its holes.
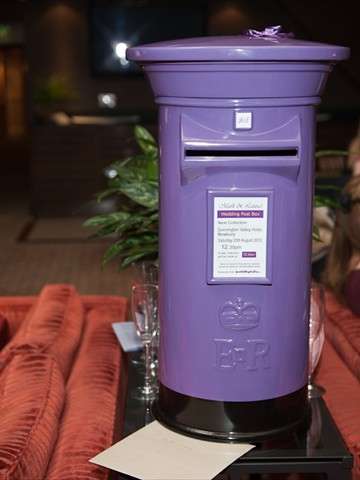
{"type": "Polygon", "coordinates": [[[360,317],[326,293],[326,336],[352,373],[360,380],[360,317]]]}

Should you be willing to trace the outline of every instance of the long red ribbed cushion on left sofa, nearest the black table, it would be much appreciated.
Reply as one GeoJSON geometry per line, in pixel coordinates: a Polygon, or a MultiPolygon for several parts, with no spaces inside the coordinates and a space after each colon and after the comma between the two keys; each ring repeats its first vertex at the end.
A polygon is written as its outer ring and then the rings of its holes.
{"type": "Polygon", "coordinates": [[[126,301],[104,303],[87,315],[47,480],[108,478],[109,471],[89,459],[112,444],[116,411],[123,415],[126,371],[111,323],[124,320],[126,301]]]}

